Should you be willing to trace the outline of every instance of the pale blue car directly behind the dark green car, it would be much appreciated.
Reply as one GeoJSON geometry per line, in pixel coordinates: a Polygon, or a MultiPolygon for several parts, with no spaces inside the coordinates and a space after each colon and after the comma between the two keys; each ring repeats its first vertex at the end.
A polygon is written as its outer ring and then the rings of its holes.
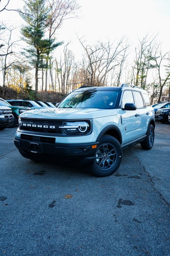
{"type": "Polygon", "coordinates": [[[46,108],[46,107],[41,107],[41,105],[39,105],[34,100],[8,99],[6,101],[9,102],[13,106],[29,107],[31,109],[46,108]]]}

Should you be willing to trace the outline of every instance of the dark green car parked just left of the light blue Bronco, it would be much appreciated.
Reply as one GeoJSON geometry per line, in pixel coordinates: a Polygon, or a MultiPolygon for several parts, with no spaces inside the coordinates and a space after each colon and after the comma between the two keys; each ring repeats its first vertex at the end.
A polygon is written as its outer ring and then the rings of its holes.
{"type": "Polygon", "coordinates": [[[7,106],[12,109],[13,116],[14,116],[14,122],[12,122],[8,127],[12,128],[15,127],[18,124],[18,117],[21,113],[27,110],[31,110],[31,108],[28,107],[19,107],[19,106],[12,106],[9,104],[6,100],[0,98],[0,106],[7,106]]]}

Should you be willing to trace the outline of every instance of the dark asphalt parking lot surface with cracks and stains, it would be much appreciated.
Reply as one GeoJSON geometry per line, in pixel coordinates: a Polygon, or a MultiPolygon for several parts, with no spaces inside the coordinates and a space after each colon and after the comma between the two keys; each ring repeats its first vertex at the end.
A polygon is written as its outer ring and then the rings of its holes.
{"type": "Polygon", "coordinates": [[[23,158],[15,131],[0,131],[0,255],[170,255],[170,125],[105,178],[23,158]]]}

